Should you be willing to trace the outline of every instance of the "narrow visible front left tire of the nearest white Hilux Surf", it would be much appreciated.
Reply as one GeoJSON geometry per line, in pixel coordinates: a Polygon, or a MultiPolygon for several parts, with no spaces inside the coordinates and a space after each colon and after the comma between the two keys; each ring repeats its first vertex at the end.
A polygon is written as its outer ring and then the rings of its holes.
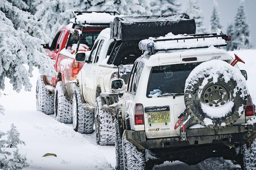
{"type": "Polygon", "coordinates": [[[116,149],[116,170],[124,169],[123,162],[123,144],[120,136],[118,122],[115,122],[115,149],[116,149]]]}

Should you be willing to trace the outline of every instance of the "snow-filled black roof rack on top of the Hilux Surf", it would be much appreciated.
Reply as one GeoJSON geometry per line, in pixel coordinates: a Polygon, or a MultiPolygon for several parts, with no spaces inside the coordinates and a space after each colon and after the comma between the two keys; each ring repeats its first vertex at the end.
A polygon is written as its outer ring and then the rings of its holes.
{"type": "Polygon", "coordinates": [[[165,37],[158,37],[142,40],[139,42],[139,48],[148,52],[157,52],[165,50],[207,48],[210,46],[227,46],[231,37],[218,33],[192,34],[192,35],[173,35],[167,34],[165,37]]]}

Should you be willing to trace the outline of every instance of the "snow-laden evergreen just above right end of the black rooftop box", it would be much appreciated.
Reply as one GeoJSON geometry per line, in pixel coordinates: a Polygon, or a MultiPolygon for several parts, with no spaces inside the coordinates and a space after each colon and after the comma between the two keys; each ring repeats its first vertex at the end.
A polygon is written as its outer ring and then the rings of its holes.
{"type": "Polygon", "coordinates": [[[203,25],[203,13],[201,10],[199,0],[188,0],[185,8],[185,12],[191,19],[195,19],[196,22],[196,33],[205,33],[205,27],[203,25]]]}

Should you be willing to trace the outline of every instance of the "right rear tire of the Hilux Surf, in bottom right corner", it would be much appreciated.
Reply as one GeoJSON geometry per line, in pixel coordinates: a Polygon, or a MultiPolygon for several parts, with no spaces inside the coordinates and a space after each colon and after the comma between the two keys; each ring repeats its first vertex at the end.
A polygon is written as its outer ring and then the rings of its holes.
{"type": "Polygon", "coordinates": [[[252,144],[247,148],[245,143],[242,143],[242,155],[243,155],[243,168],[244,170],[256,169],[256,139],[252,141],[252,144]]]}

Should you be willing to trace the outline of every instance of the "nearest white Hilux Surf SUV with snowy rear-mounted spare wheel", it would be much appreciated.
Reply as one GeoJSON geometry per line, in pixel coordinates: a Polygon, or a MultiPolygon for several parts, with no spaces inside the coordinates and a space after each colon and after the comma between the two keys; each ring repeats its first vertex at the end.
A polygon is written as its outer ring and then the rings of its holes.
{"type": "Polygon", "coordinates": [[[236,65],[238,56],[219,48],[230,39],[168,34],[139,43],[147,52],[135,61],[116,106],[116,169],[152,169],[175,160],[195,165],[211,157],[256,168],[247,75],[236,65]]]}

